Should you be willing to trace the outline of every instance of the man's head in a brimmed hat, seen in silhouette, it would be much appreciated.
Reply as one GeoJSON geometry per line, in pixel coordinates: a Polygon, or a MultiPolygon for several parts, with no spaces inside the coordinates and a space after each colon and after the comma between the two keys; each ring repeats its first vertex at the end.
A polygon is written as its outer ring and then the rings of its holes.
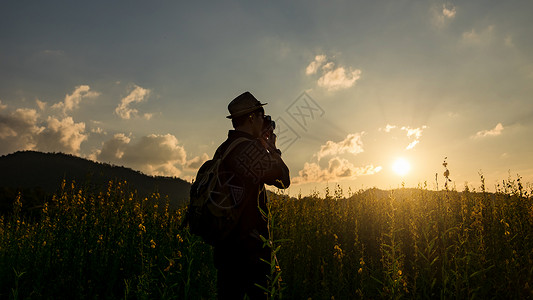
{"type": "Polygon", "coordinates": [[[231,119],[235,129],[260,137],[265,115],[264,105],[266,103],[259,102],[250,92],[245,92],[230,102],[230,115],[227,118],[231,119]]]}

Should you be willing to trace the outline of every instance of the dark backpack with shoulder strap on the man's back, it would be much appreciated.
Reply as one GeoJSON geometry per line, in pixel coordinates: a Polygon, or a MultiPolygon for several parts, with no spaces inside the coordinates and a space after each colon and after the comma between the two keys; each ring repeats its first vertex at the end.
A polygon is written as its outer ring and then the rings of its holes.
{"type": "Polygon", "coordinates": [[[245,141],[250,139],[238,138],[222,155],[215,153],[213,159],[200,167],[191,186],[186,222],[191,233],[201,236],[210,245],[224,240],[237,225],[242,205],[235,204],[234,187],[224,184],[219,171],[226,156],[245,141]]]}

